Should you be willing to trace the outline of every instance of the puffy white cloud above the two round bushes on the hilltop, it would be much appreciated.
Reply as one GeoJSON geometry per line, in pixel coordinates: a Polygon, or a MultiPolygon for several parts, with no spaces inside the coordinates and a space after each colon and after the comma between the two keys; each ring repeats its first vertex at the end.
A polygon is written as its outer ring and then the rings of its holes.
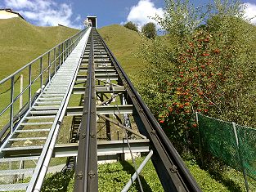
{"type": "MultiPolygon", "coordinates": [[[[138,28],[141,29],[143,25],[149,22],[155,23],[157,29],[160,28],[156,21],[152,17],[164,16],[164,11],[162,8],[156,8],[154,2],[150,0],[140,0],[136,6],[131,7],[128,14],[127,21],[132,21],[137,24],[138,28]]],[[[122,22],[124,23],[124,22],[122,22]]]]}

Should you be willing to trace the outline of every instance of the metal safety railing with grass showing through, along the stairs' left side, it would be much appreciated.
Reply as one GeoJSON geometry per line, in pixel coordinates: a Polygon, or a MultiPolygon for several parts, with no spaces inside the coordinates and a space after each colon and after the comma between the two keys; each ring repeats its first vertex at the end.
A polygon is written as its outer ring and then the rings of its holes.
{"type": "Polygon", "coordinates": [[[0,81],[0,145],[15,130],[21,111],[31,107],[34,97],[43,92],[85,32],[86,29],[79,31],[0,81]],[[20,76],[27,78],[19,82],[20,76]]]}

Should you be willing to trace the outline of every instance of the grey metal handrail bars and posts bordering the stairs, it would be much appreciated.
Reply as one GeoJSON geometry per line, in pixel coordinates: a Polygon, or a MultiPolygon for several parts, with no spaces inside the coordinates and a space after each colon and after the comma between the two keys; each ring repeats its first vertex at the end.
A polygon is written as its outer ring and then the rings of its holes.
{"type": "MultiPolygon", "coordinates": [[[[12,133],[14,131],[14,104],[16,102],[16,100],[18,100],[20,98],[20,96],[23,96],[25,94],[25,92],[29,92],[29,100],[28,100],[28,104],[29,104],[29,108],[32,105],[32,85],[34,85],[34,83],[39,79],[40,81],[40,88],[39,93],[43,92],[43,88],[45,87],[45,85],[51,80],[52,76],[54,74],[56,74],[56,71],[58,69],[61,68],[61,65],[63,65],[65,59],[70,55],[70,52],[74,50],[74,47],[76,47],[76,45],[78,44],[79,40],[83,37],[83,34],[86,32],[87,29],[83,29],[81,31],[79,31],[79,33],[74,34],[72,37],[66,39],[65,41],[57,44],[55,47],[52,47],[50,50],[46,51],[45,53],[43,53],[41,56],[38,56],[36,59],[30,61],[27,65],[21,67],[20,69],[18,69],[16,72],[14,72],[13,74],[9,75],[7,78],[3,78],[0,81],[0,86],[3,83],[6,83],[8,80],[11,80],[11,85],[10,85],[10,91],[11,91],[11,100],[10,103],[7,104],[6,107],[4,107],[4,109],[2,109],[2,111],[0,111],[0,117],[2,116],[2,114],[4,114],[5,112],[7,112],[8,109],[10,109],[10,114],[9,114],[9,129],[10,132],[12,133]],[[52,55],[52,54],[53,55],[52,55]],[[45,69],[43,68],[43,57],[47,56],[46,58],[46,67],[45,69]],[[53,56],[53,59],[51,60],[51,56],[53,56]],[[32,79],[32,66],[38,65],[39,62],[39,67],[40,67],[40,73],[34,78],[32,79]],[[54,71],[51,72],[52,66],[54,67],[54,71]],[[15,78],[18,74],[20,74],[21,71],[25,70],[25,69],[29,69],[29,84],[22,90],[22,92],[20,92],[18,94],[18,96],[14,96],[14,87],[15,87],[15,78]],[[48,74],[47,74],[48,73],[48,74]],[[43,75],[47,74],[47,79],[43,78],[43,75]],[[45,82],[43,82],[43,80],[45,80],[45,82]]],[[[45,59],[45,58],[44,58],[45,59]]],[[[2,128],[1,128],[2,129],[2,128]]],[[[7,131],[7,130],[6,130],[7,131]]],[[[0,136],[0,140],[1,140],[0,136]]]]}

